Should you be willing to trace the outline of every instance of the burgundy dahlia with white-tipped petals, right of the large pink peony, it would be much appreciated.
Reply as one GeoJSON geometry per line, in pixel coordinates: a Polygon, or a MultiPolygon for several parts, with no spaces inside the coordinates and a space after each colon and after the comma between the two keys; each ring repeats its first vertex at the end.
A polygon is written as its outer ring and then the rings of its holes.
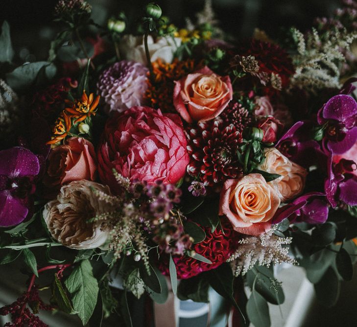
{"type": "Polygon", "coordinates": [[[227,178],[238,178],[241,168],[237,150],[241,132],[220,117],[187,129],[190,163],[187,172],[205,186],[222,184],[227,178]]]}

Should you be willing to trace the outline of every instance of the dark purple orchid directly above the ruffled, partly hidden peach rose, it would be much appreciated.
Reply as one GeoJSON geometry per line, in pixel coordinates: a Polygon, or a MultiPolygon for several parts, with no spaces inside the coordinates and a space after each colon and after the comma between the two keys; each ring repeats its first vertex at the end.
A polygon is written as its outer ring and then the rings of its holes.
{"type": "Polygon", "coordinates": [[[291,161],[309,168],[309,166],[316,164],[323,157],[320,145],[311,140],[312,128],[313,124],[309,121],[295,123],[280,138],[276,148],[291,161]]]}

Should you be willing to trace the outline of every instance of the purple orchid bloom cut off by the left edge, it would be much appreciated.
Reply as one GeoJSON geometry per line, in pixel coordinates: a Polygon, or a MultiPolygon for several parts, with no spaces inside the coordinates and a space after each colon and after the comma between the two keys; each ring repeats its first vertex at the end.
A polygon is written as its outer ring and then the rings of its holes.
{"type": "Polygon", "coordinates": [[[28,149],[0,151],[0,226],[18,225],[26,218],[39,172],[39,160],[28,149]]]}

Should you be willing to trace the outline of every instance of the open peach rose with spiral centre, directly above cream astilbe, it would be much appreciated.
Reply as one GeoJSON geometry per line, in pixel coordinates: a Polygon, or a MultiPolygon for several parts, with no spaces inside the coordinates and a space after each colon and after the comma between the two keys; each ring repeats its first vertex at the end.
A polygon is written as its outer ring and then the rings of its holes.
{"type": "Polygon", "coordinates": [[[230,220],[242,234],[258,236],[271,228],[280,204],[279,194],[261,174],[227,179],[219,200],[219,214],[230,220]]]}

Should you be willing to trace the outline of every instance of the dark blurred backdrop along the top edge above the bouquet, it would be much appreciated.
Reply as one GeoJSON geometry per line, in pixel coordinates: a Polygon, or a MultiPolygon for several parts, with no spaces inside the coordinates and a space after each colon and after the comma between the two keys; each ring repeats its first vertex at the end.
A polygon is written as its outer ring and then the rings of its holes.
{"type": "MultiPolygon", "coordinates": [[[[92,4],[95,22],[105,25],[120,10],[129,19],[140,16],[143,6],[151,0],[88,2],[92,4]]],[[[15,52],[20,52],[19,61],[47,58],[49,42],[61,27],[52,22],[56,3],[57,0],[1,0],[0,23],[4,19],[9,22],[15,52]]],[[[204,0],[157,0],[157,3],[174,24],[184,26],[185,17],[194,20],[204,0]]],[[[213,0],[220,27],[236,38],[251,36],[255,27],[273,37],[291,25],[304,31],[315,17],[328,16],[338,4],[338,0],[213,0]]]]}

